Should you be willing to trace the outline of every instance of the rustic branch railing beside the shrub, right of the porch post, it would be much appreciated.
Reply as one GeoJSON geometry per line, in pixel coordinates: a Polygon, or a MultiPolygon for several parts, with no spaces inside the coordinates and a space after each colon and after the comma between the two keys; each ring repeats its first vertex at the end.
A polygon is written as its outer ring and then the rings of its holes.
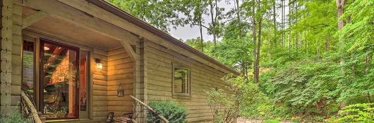
{"type": "MultiPolygon", "coordinates": [[[[154,111],[151,107],[149,107],[147,104],[145,104],[144,102],[140,101],[139,99],[135,98],[134,96],[130,95],[131,98],[134,99],[135,103],[133,103],[133,106],[134,106],[134,113],[140,113],[139,111],[137,111],[137,106],[138,106],[138,103],[140,104],[140,110],[142,109],[145,109],[145,110],[148,110],[150,111],[152,114],[154,114],[156,117],[158,117],[159,119],[161,119],[164,123],[169,123],[169,121],[164,118],[163,116],[159,115],[156,111],[154,111]],[[145,108],[144,108],[145,107],[145,108]]],[[[139,114],[137,115],[134,115],[133,119],[136,119],[138,117],[139,114]]]]}

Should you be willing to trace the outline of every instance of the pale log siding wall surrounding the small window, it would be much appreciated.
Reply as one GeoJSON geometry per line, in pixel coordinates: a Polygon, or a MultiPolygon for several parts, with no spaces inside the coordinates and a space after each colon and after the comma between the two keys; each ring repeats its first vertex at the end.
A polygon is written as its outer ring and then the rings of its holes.
{"type": "Polygon", "coordinates": [[[147,60],[147,83],[145,84],[147,86],[147,102],[172,100],[185,105],[188,110],[187,121],[189,123],[213,119],[206,103],[206,91],[215,87],[224,89],[226,84],[221,80],[224,73],[151,41],[146,42],[145,54],[147,60]],[[190,69],[191,96],[173,95],[172,63],[190,69]]]}

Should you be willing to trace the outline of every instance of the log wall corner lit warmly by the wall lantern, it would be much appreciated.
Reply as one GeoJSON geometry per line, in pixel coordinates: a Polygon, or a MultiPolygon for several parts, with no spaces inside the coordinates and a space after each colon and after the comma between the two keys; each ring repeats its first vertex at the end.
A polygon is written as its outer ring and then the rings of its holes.
{"type": "Polygon", "coordinates": [[[108,112],[114,112],[116,116],[131,112],[133,106],[129,95],[133,94],[134,65],[125,49],[121,47],[108,52],[94,50],[92,57],[93,121],[105,121],[108,112]],[[95,58],[103,63],[102,70],[96,70],[95,58]],[[118,97],[117,90],[121,83],[125,95],[118,97]]]}

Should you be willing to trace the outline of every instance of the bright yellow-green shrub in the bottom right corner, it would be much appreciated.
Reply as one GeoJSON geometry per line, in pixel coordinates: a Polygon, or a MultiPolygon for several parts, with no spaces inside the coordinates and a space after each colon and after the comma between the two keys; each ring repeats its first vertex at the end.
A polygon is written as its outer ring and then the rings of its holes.
{"type": "Polygon", "coordinates": [[[335,123],[373,123],[374,103],[358,103],[349,105],[339,111],[335,123]]]}

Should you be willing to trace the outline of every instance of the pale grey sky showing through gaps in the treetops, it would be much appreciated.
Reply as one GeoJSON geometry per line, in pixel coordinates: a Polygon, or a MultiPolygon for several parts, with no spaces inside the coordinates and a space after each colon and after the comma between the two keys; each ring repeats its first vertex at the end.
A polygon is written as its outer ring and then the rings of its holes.
{"type": "MultiPolygon", "coordinates": [[[[241,0],[239,0],[241,1],[241,0]]],[[[279,3],[280,1],[277,1],[277,4],[280,4],[279,3]]],[[[286,4],[287,4],[287,1],[286,1],[286,4]]],[[[221,2],[219,2],[219,6],[220,7],[223,7],[225,8],[225,12],[228,12],[230,11],[232,8],[234,8],[234,3],[232,4],[228,4],[225,2],[225,0],[222,0],[221,2]]],[[[277,9],[277,15],[279,15],[279,13],[281,13],[281,10],[280,9],[277,9]]],[[[286,6],[285,8],[285,14],[287,15],[288,14],[288,7],[286,6]]],[[[210,19],[210,16],[209,15],[205,15],[203,16],[204,20],[205,20],[205,25],[208,25],[208,23],[211,21],[210,19]]],[[[281,22],[281,16],[278,16],[277,17],[277,22],[281,22]]],[[[170,28],[171,31],[169,32],[173,37],[177,38],[177,39],[183,39],[183,40],[187,40],[187,39],[191,39],[191,38],[196,38],[198,36],[200,36],[200,31],[199,31],[199,28],[197,26],[194,26],[192,28],[190,28],[189,25],[186,25],[185,27],[177,27],[177,29],[174,29],[174,28],[170,28]]],[[[213,40],[213,35],[209,35],[207,33],[207,30],[205,28],[203,28],[203,39],[204,41],[207,41],[207,40],[210,40],[212,41],[213,40]]]]}

